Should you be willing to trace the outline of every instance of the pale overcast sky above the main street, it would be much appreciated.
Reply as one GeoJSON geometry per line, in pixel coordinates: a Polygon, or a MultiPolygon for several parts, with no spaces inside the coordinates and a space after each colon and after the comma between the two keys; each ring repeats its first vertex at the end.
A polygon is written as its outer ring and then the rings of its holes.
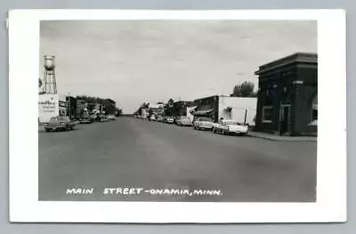
{"type": "Polygon", "coordinates": [[[259,66],[294,52],[317,52],[317,23],[42,21],[40,47],[41,56],[56,56],[58,93],[111,98],[133,113],[143,101],[230,94],[245,80],[257,89],[259,66]]]}

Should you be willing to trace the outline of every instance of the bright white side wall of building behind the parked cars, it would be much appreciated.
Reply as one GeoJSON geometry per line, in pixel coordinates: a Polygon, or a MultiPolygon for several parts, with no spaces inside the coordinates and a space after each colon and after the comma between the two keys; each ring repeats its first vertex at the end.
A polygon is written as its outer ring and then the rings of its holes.
{"type": "Polygon", "coordinates": [[[247,124],[255,125],[254,117],[256,115],[257,98],[242,98],[242,97],[219,97],[219,119],[232,119],[243,123],[245,120],[245,112],[247,110],[247,124]],[[231,112],[227,111],[231,108],[231,112]]]}

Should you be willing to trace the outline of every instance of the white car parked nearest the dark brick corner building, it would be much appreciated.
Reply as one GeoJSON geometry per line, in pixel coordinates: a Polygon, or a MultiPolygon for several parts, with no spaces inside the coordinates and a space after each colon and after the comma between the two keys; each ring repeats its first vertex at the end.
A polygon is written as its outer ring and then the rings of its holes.
{"type": "Polygon", "coordinates": [[[248,125],[240,124],[233,120],[221,120],[213,125],[213,133],[246,135],[248,133],[248,125]]]}

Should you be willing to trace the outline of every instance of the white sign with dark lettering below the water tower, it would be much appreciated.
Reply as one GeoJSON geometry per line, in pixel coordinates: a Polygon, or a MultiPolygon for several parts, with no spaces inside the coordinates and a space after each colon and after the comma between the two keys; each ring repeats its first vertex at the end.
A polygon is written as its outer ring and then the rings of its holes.
{"type": "Polygon", "coordinates": [[[51,117],[59,115],[59,101],[57,94],[38,95],[38,117],[40,122],[48,122],[51,117]]]}

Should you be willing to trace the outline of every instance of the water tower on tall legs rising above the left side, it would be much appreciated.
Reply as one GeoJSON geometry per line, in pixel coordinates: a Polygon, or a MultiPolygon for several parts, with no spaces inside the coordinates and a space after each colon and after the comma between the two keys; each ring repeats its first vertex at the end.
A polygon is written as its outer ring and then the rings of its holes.
{"type": "Polygon", "coordinates": [[[53,55],[44,55],[44,93],[57,93],[53,55]]]}

